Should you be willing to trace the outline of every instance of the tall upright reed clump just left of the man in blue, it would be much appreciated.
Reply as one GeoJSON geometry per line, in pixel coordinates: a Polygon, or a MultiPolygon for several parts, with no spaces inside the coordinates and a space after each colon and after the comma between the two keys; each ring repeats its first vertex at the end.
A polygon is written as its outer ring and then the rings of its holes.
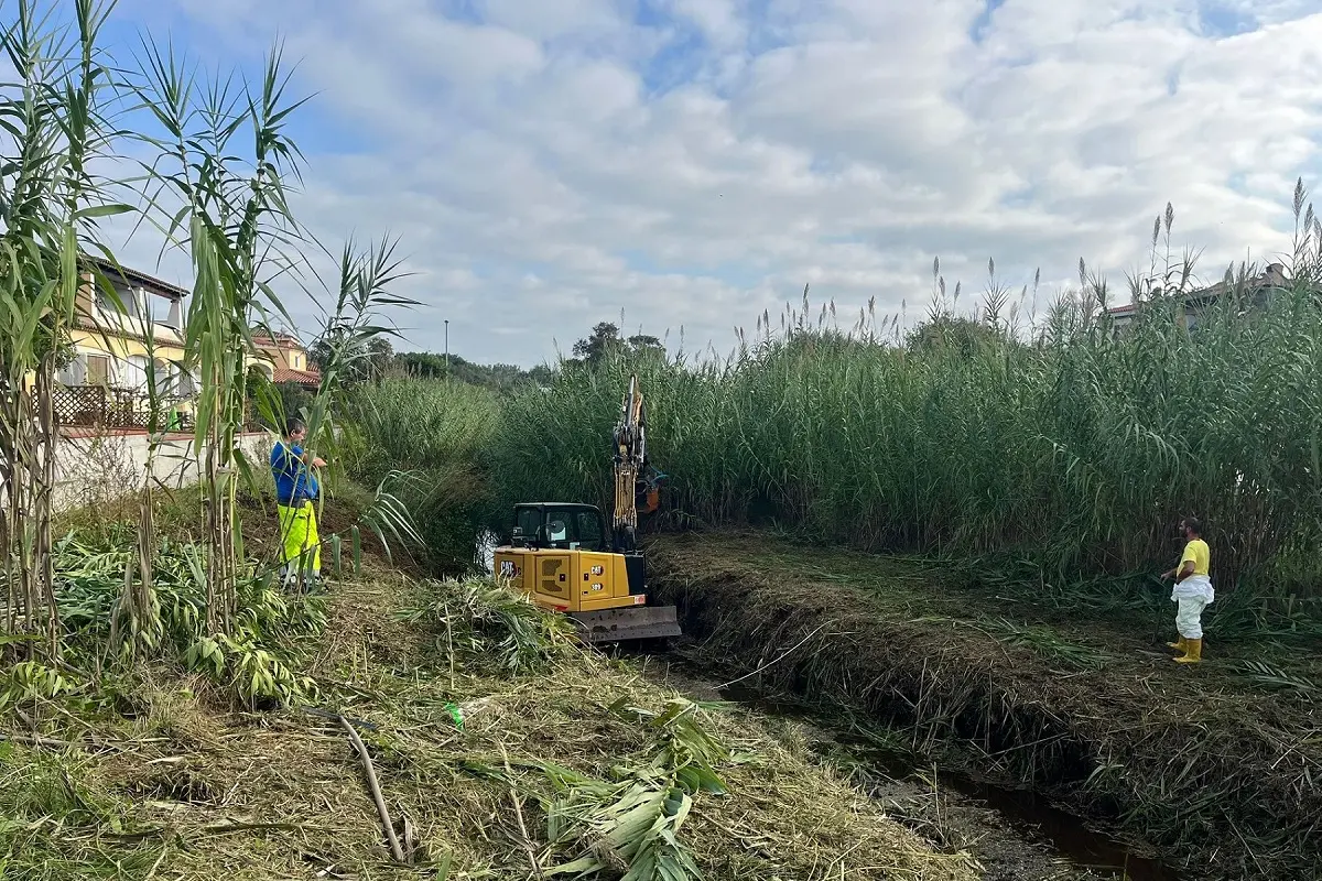
{"type": "Polygon", "coordinates": [[[296,260],[299,229],[286,176],[297,174],[286,98],[288,77],[272,52],[256,88],[204,81],[172,52],[147,42],[132,87],[156,125],[140,137],[159,151],[144,164],[152,206],[169,210],[165,234],[186,248],[193,269],[184,349],[201,378],[194,452],[204,456],[209,557],[208,623],[229,633],[238,613],[235,499],[239,482],[258,477],[237,444],[247,419],[247,358],[253,328],[286,314],[275,277],[296,260]],[[176,206],[177,210],[173,210],[176,206]]]}

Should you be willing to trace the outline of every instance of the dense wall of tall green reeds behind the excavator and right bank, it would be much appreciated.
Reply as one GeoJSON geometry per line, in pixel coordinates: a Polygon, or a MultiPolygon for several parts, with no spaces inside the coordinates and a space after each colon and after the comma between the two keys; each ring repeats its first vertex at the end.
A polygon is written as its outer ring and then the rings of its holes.
{"type": "MultiPolygon", "coordinates": [[[[841,328],[828,304],[814,321],[805,295],[723,359],[564,365],[549,391],[506,403],[494,493],[605,503],[615,400],[636,370],[676,516],[776,519],[866,548],[1022,560],[1064,581],[1167,563],[1179,518],[1196,515],[1227,588],[1247,576],[1256,594],[1315,590],[1322,236],[1302,188],[1296,215],[1290,281],[1251,302],[1260,267],[1232,268],[1191,332],[1185,301],[1199,285],[1188,255],[1159,254],[1167,210],[1153,267],[1130,279],[1124,332],[1084,264],[1040,314],[1019,312],[990,265],[980,314],[960,325],[939,305],[908,338],[870,310],[841,328]]],[[[937,275],[939,304],[944,291],[937,275]]]]}

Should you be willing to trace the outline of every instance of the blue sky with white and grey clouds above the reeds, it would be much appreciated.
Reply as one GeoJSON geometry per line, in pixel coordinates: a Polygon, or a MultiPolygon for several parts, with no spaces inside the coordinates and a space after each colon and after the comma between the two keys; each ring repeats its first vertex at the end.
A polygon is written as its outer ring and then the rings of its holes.
{"type": "MultiPolygon", "coordinates": [[[[1167,201],[1215,279],[1289,247],[1319,172],[1322,0],[120,0],[115,54],[140,30],[251,78],[283,40],[295,211],[398,236],[402,347],[448,318],[488,362],[621,310],[723,350],[804,284],[914,321],[935,256],[972,293],[1040,268],[1040,305],[1080,258],[1145,267],[1167,201]]],[[[157,250],[123,254],[186,283],[157,250]]]]}

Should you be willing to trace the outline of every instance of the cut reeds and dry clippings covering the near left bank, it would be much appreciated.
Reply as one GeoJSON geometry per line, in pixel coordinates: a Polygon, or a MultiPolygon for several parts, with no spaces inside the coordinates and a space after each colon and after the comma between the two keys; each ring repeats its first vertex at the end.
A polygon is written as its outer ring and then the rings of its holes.
{"type": "Polygon", "coordinates": [[[258,584],[213,655],[189,651],[202,580],[176,540],[157,651],[98,654],[127,553],[66,538],[86,649],[0,680],[4,877],[978,877],[805,741],[658,688],[490,581],[365,556],[324,594],[258,584]]]}

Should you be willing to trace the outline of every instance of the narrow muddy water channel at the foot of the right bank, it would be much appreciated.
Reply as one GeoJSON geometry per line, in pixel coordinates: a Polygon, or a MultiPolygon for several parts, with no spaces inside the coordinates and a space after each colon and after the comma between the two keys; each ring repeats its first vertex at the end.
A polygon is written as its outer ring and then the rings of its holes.
{"type": "MultiPolygon", "coordinates": [[[[920,756],[887,746],[886,732],[870,737],[833,726],[830,719],[740,686],[718,688],[722,700],[765,716],[808,721],[826,736],[863,789],[888,803],[896,819],[927,837],[965,847],[986,866],[986,878],[1122,878],[1182,881],[1179,873],[1118,839],[1088,827],[1031,791],[1010,790],[948,770],[933,771],[920,756]],[[936,802],[940,800],[940,804],[936,802]]],[[[940,843],[940,841],[937,841],[940,843]]]]}

